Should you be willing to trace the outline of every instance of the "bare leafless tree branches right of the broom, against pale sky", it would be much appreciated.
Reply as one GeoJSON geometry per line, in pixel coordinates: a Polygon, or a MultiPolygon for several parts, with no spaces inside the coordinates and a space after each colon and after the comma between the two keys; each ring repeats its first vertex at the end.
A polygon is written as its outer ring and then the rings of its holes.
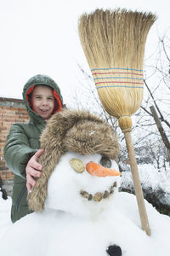
{"type": "Polygon", "coordinates": [[[170,38],[167,33],[159,38],[156,54],[148,61],[154,64],[144,67],[144,102],[137,113],[136,126],[145,137],[154,137],[155,143],[162,141],[167,148],[166,159],[170,162],[170,38]],[[157,141],[157,142],[156,142],[157,141]]]}

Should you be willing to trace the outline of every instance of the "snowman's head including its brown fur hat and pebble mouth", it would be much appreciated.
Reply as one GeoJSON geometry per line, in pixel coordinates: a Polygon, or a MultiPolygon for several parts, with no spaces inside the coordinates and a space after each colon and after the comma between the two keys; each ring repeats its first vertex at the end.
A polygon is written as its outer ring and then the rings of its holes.
{"type": "Polygon", "coordinates": [[[96,170],[104,173],[102,165],[110,162],[107,168],[118,171],[113,163],[120,148],[111,125],[88,111],[64,109],[48,120],[40,141],[45,149],[39,158],[42,176],[28,198],[33,211],[42,211],[47,195],[46,207],[71,212],[76,211],[75,202],[77,212],[82,206],[84,212],[88,207],[92,212],[94,206],[109,201],[117,189],[118,177],[99,177],[96,170]],[[77,166],[82,166],[83,172],[77,171],[77,166]]]}

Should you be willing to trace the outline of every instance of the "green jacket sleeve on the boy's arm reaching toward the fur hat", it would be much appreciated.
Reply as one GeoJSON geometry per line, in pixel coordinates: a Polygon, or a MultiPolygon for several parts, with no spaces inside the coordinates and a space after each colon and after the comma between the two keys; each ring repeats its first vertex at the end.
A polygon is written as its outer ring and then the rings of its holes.
{"type": "Polygon", "coordinates": [[[6,145],[3,149],[4,159],[8,168],[26,179],[26,165],[37,149],[31,148],[28,137],[20,124],[14,124],[9,131],[6,145]]]}

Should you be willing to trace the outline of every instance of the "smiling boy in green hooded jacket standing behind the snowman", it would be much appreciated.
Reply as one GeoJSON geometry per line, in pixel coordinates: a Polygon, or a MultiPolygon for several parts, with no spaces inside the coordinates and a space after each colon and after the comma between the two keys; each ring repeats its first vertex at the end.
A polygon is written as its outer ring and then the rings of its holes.
{"type": "Polygon", "coordinates": [[[11,126],[3,152],[8,168],[14,172],[12,222],[31,213],[26,197],[36,184],[34,177],[41,176],[42,166],[37,160],[43,150],[38,150],[39,137],[46,120],[63,108],[58,85],[46,75],[38,74],[28,80],[23,99],[30,121],[11,126]]]}

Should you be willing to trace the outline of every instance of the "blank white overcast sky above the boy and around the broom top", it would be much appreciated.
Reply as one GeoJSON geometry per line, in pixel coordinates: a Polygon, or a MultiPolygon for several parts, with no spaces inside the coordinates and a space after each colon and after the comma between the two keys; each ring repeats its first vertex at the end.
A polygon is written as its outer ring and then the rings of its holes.
{"type": "Polygon", "coordinates": [[[22,98],[22,88],[37,73],[54,79],[65,98],[79,86],[77,64],[89,72],[82,51],[77,20],[96,8],[117,7],[151,11],[158,16],[151,27],[145,55],[156,47],[157,31],[170,26],[169,0],[0,0],[0,96],[22,98]]]}

